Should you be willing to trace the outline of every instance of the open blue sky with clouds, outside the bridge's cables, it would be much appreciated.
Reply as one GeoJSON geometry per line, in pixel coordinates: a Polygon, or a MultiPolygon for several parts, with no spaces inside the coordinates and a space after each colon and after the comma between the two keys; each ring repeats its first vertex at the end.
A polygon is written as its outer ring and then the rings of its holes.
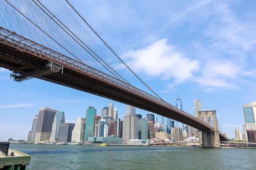
{"type": "MultiPolygon", "coordinates": [[[[255,101],[256,1],[75,0],[73,5],[152,89],[194,115],[193,99],[216,110],[228,137],[242,130],[242,105],[255,101]]],[[[64,111],[67,122],[110,100],[31,79],[9,80],[0,68],[0,139],[25,139],[39,108],[64,111]]],[[[113,102],[119,117],[125,105],[113,102]]],[[[146,115],[146,111],[137,109],[146,115]]]]}

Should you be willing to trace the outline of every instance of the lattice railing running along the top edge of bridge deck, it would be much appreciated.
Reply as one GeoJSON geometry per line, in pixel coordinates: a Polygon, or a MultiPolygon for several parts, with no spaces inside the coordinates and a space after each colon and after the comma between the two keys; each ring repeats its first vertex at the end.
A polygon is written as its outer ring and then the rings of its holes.
{"type": "Polygon", "coordinates": [[[199,120],[198,118],[190,115],[189,113],[186,113],[185,111],[180,110],[179,108],[165,102],[162,99],[159,99],[151,94],[148,94],[145,91],[140,90],[139,88],[136,88],[126,82],[123,82],[120,79],[117,79],[115,77],[112,77],[111,75],[105,74],[102,71],[92,68],[73,58],[67,57],[57,51],[47,48],[44,45],[40,45],[37,42],[29,40],[26,37],[16,34],[16,32],[9,31],[8,29],[3,27],[0,27],[0,42],[1,41],[4,42],[6,45],[11,45],[12,47],[17,48],[20,51],[23,50],[29,54],[33,54],[43,59],[49,59],[55,62],[60,62],[62,65],[66,66],[67,68],[70,68],[73,70],[75,69],[76,71],[79,71],[83,74],[84,73],[90,74],[91,76],[96,77],[101,81],[111,83],[112,85],[115,85],[115,86],[119,85],[119,88],[120,87],[125,88],[126,90],[134,94],[137,94],[145,99],[149,99],[152,102],[157,102],[158,104],[163,105],[173,111],[176,111],[176,112],[179,112],[180,114],[188,116],[189,118],[194,119],[195,121],[200,122],[201,124],[204,124],[205,126],[209,127],[209,129],[213,129],[211,126],[207,125],[207,123],[199,120]]]}

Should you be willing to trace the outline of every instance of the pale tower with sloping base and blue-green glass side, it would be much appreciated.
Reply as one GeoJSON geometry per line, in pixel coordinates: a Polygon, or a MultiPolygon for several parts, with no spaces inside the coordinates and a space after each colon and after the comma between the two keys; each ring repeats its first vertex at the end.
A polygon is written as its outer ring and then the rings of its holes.
{"type": "Polygon", "coordinates": [[[51,137],[50,137],[51,141],[58,140],[58,132],[59,132],[60,123],[65,123],[65,115],[64,115],[64,112],[57,111],[55,113],[54,120],[52,123],[52,133],[51,133],[51,137]]]}

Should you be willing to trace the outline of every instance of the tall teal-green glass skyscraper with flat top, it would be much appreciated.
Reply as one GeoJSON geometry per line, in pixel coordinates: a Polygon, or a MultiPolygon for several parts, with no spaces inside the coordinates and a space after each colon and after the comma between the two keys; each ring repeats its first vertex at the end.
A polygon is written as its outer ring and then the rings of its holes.
{"type": "Polygon", "coordinates": [[[89,106],[89,108],[86,109],[86,122],[84,126],[84,142],[87,140],[88,137],[93,137],[94,122],[95,122],[96,114],[97,114],[97,110],[94,109],[93,106],[89,106]]]}

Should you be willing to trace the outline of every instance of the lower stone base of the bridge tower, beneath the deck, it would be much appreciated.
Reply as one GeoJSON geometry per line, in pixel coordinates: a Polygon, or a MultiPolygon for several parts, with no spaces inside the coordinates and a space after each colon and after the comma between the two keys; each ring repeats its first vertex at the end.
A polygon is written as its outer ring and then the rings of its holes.
{"type": "Polygon", "coordinates": [[[218,131],[199,130],[200,147],[221,147],[218,131]]]}

